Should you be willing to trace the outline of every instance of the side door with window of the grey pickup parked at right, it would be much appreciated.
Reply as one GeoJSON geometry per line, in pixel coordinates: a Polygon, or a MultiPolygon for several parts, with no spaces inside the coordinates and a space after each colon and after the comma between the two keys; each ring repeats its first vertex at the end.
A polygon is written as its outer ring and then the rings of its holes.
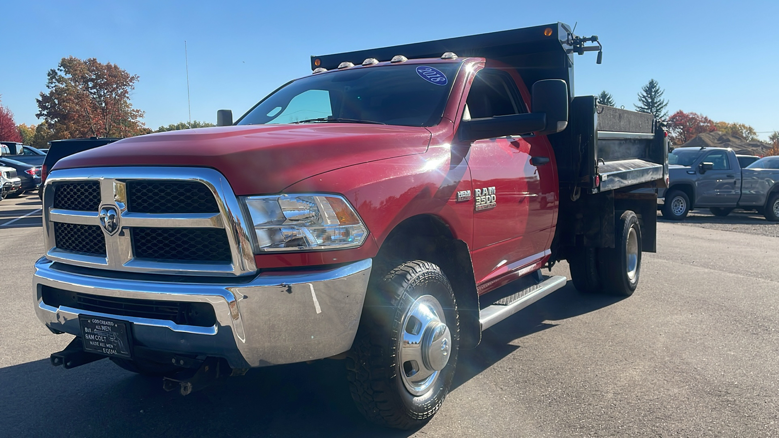
{"type": "MultiPolygon", "coordinates": [[[[735,207],[741,196],[741,168],[731,163],[728,151],[713,150],[700,163],[714,164],[714,168],[700,175],[696,182],[696,206],[735,207]]],[[[696,170],[700,173],[700,165],[696,170]]]]}

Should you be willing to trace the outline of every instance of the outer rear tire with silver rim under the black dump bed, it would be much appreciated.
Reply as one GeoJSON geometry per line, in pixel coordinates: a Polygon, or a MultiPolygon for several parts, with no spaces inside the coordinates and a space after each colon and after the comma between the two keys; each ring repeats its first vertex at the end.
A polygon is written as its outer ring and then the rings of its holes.
{"type": "Polygon", "coordinates": [[[617,218],[614,228],[614,248],[600,250],[598,271],[606,292],[630,296],[641,274],[641,227],[636,214],[628,210],[617,218]]]}

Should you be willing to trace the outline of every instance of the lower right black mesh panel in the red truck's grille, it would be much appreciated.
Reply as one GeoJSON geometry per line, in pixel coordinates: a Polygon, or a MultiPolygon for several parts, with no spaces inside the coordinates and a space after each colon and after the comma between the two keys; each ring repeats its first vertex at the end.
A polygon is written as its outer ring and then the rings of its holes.
{"type": "Polygon", "coordinates": [[[232,260],[227,231],[210,228],[132,228],[140,259],[225,262],[232,260]]]}

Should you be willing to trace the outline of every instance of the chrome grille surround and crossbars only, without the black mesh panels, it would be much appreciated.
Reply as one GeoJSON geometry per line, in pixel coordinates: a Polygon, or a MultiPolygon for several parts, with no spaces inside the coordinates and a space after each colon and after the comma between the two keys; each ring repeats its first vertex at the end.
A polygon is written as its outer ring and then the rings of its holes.
{"type": "Polygon", "coordinates": [[[256,272],[257,267],[252,250],[251,221],[245,220],[238,198],[233,193],[227,178],[211,168],[162,168],[162,167],[116,167],[75,168],[52,171],[43,187],[44,244],[50,260],[83,267],[123,270],[155,274],[184,275],[244,275],[256,272]],[[126,182],[130,180],[167,180],[201,182],[208,187],[217,200],[218,214],[138,214],[127,211],[126,182]],[[106,237],[106,258],[84,256],[56,248],[54,222],[100,225],[97,212],[76,212],[54,209],[54,190],[60,182],[100,182],[101,206],[115,206],[119,217],[120,231],[106,237]],[[93,220],[93,221],[92,221],[93,220]],[[135,260],[132,255],[128,227],[187,227],[224,228],[230,243],[232,263],[152,263],[135,260]],[[229,266],[229,269],[225,268],[229,266]]]}

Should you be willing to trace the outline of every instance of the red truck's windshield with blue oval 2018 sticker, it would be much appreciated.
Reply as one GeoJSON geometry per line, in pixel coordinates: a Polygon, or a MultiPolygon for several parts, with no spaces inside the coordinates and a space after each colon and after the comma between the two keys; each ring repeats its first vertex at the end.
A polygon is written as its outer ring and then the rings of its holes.
{"type": "Polygon", "coordinates": [[[382,65],[307,76],[270,94],[237,124],[433,126],[441,121],[457,69],[460,63],[382,65]]]}

